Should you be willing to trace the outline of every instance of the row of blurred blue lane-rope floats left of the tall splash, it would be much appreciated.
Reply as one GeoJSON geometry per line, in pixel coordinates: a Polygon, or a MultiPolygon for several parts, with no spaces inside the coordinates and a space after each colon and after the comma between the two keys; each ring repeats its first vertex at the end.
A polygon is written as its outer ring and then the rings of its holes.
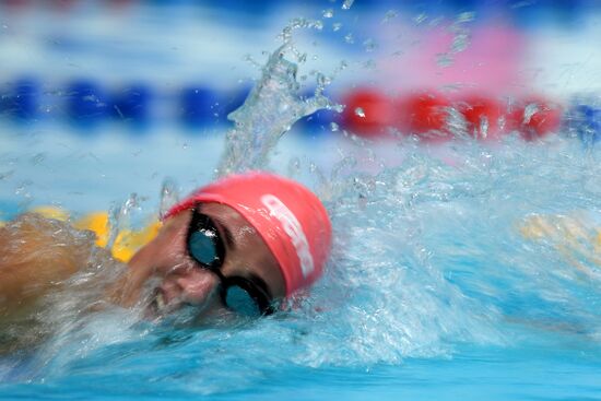
{"type": "Polygon", "coordinates": [[[172,93],[143,82],[107,87],[93,79],[75,79],[43,85],[25,78],[0,86],[0,117],[21,122],[67,120],[85,132],[107,120],[144,129],[160,118],[198,129],[226,123],[227,115],[243,105],[249,91],[248,86],[216,91],[192,84],[172,93]]]}

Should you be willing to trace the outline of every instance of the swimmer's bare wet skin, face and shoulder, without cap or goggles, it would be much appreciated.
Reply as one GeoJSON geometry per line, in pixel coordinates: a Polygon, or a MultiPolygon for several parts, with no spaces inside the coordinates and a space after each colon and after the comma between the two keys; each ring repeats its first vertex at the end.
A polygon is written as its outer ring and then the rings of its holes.
{"type": "MultiPolygon", "coordinates": [[[[262,280],[274,299],[283,298],[285,283],[280,268],[246,220],[217,203],[202,204],[200,211],[213,220],[224,239],[223,275],[262,280]]],[[[101,281],[91,279],[87,285],[99,290],[101,298],[123,307],[150,304],[145,309],[150,318],[184,305],[198,307],[195,315],[199,318],[224,311],[217,276],[188,255],[186,241],[191,215],[191,211],[185,211],[167,220],[116,281],[109,283],[99,276],[101,281]]],[[[69,223],[24,214],[0,227],[0,355],[32,349],[50,335],[38,321],[38,312],[45,305],[40,300],[56,291],[68,292],[68,280],[73,274],[86,267],[95,269],[97,263],[105,269],[120,269],[108,250],[94,246],[92,233],[74,231],[69,223]]],[[[92,311],[106,305],[98,303],[96,296],[89,299],[87,307],[82,304],[82,310],[92,311]]],[[[43,320],[51,321],[48,318],[43,320]]]]}

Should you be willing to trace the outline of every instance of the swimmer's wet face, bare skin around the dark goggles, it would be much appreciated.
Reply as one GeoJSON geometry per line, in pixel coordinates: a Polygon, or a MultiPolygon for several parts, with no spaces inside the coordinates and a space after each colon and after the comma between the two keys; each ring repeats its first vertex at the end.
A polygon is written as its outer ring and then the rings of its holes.
{"type": "Polygon", "coordinates": [[[188,239],[193,211],[181,212],[169,219],[156,238],[130,260],[123,294],[129,304],[139,299],[141,288],[153,278],[158,280],[151,305],[160,315],[185,305],[198,307],[202,315],[226,310],[222,284],[223,279],[227,281],[229,278],[257,284],[273,299],[284,297],[285,283],[278,262],[263,239],[238,212],[219,203],[199,204],[197,212],[211,220],[219,241],[223,244],[220,273],[211,271],[190,255],[188,239]]]}

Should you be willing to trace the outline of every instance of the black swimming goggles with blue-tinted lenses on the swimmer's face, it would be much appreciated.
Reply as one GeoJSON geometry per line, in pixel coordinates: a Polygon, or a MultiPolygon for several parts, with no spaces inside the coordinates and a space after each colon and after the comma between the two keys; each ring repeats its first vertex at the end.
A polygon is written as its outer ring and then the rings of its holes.
{"type": "Polygon", "coordinates": [[[272,296],[261,279],[223,275],[223,240],[211,217],[198,209],[197,205],[192,210],[192,220],[188,228],[188,253],[200,268],[217,275],[223,304],[228,309],[246,316],[273,314],[272,296]]]}

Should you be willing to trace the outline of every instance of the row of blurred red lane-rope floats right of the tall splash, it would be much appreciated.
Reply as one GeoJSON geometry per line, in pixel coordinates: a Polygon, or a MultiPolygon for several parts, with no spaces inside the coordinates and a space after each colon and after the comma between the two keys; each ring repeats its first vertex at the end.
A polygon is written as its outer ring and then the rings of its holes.
{"type": "Polygon", "coordinates": [[[397,129],[424,142],[448,141],[455,133],[496,141],[515,131],[532,141],[557,132],[563,117],[561,105],[541,96],[525,97],[508,106],[480,94],[449,98],[424,91],[393,99],[376,89],[363,87],[342,101],[346,105],[342,123],[352,132],[378,138],[397,129]]]}

